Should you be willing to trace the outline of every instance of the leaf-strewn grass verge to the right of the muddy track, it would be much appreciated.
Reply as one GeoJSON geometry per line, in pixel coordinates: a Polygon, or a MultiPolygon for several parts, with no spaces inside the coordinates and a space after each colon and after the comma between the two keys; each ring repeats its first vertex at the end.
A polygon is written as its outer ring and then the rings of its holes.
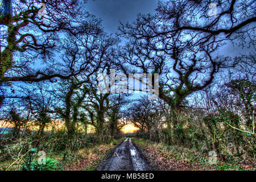
{"type": "Polygon", "coordinates": [[[133,138],[133,142],[142,149],[152,167],[160,171],[255,171],[255,166],[245,166],[235,161],[217,160],[216,164],[209,164],[209,156],[181,146],[168,146],[138,138],[133,138]]]}

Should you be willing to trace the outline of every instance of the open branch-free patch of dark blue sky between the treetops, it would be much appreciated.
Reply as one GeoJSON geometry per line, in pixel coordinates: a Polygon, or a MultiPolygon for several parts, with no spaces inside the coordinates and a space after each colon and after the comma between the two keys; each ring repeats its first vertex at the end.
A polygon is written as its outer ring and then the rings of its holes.
{"type": "Polygon", "coordinates": [[[158,0],[88,0],[85,7],[90,14],[102,19],[104,30],[115,33],[122,23],[134,22],[138,13],[155,14],[158,0]]]}

